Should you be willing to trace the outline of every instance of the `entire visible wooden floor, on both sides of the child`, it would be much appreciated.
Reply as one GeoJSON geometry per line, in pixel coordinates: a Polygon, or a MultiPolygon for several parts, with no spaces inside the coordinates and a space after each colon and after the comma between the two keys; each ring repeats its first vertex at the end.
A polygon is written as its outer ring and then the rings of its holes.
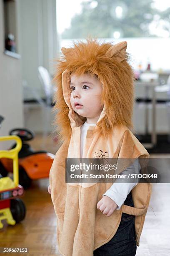
{"type": "MultiPolygon", "coordinates": [[[[31,145],[35,150],[44,149],[53,154],[57,151],[57,143],[51,137],[48,137],[45,148],[42,148],[40,135],[36,136],[31,145]]],[[[170,155],[159,155],[161,156],[170,157],[170,155]]],[[[29,249],[28,254],[8,253],[8,255],[60,255],[56,246],[56,218],[47,192],[48,184],[48,179],[34,181],[32,187],[25,191],[23,201],[27,215],[22,223],[10,226],[5,220],[3,221],[4,227],[0,230],[0,247],[29,249]]],[[[137,256],[170,255],[169,202],[170,184],[153,184],[153,194],[140,237],[140,246],[137,247],[137,256]]]]}

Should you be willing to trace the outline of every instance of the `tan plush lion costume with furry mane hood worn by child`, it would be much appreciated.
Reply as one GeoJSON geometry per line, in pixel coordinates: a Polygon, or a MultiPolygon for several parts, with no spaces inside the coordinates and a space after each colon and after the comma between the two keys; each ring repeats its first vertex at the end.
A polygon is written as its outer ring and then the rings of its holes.
{"type": "MultiPolygon", "coordinates": [[[[92,256],[93,251],[110,241],[120,224],[122,212],[135,215],[135,240],[139,246],[152,185],[138,183],[132,189],[134,207],[122,205],[106,217],[97,202],[112,183],[66,183],[65,159],[80,158],[80,127],[86,118],[70,104],[70,74],[97,74],[102,82],[104,105],[96,126],[89,126],[82,158],[107,151],[109,158],[140,159],[149,154],[130,128],[133,127],[133,70],[128,63],[127,42],[98,43],[96,39],[62,48],[55,81],[56,124],[62,145],[50,169],[52,203],[57,215],[57,244],[64,256],[92,256]]],[[[123,166],[125,169],[128,166],[123,166]]],[[[119,173],[123,169],[119,169],[119,173]]]]}

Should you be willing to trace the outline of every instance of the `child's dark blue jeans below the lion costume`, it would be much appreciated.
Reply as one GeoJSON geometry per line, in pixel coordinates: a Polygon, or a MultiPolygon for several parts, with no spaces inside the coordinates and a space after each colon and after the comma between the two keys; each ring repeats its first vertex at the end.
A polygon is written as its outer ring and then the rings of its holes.
{"type": "MultiPolygon", "coordinates": [[[[124,205],[134,207],[131,192],[124,205]]],[[[113,238],[93,252],[93,256],[135,256],[135,216],[122,213],[120,225],[113,238]]]]}

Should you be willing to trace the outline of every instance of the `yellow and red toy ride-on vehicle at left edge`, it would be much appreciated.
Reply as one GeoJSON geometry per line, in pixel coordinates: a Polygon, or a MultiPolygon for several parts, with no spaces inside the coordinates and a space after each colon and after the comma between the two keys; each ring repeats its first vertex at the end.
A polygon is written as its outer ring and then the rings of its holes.
{"type": "Polygon", "coordinates": [[[7,224],[15,225],[25,218],[26,213],[24,202],[18,198],[24,194],[18,174],[18,152],[22,141],[18,136],[0,137],[0,141],[9,140],[15,140],[16,146],[10,150],[0,150],[0,158],[13,159],[13,179],[0,176],[0,228],[3,228],[1,220],[6,219],[7,224]]]}

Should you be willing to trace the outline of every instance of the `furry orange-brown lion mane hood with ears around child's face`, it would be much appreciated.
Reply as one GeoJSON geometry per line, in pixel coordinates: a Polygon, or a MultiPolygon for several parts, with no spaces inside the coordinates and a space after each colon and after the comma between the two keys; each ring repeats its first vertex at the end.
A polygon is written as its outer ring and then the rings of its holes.
{"type": "Polygon", "coordinates": [[[97,39],[74,43],[71,48],[62,48],[63,55],[57,60],[54,81],[57,85],[57,110],[55,124],[61,141],[69,143],[71,129],[82,125],[86,118],[78,115],[70,105],[70,74],[97,74],[102,82],[101,103],[104,105],[97,126],[102,136],[107,137],[115,125],[133,128],[133,69],[128,63],[127,42],[118,44],[98,43],[97,39]]]}

